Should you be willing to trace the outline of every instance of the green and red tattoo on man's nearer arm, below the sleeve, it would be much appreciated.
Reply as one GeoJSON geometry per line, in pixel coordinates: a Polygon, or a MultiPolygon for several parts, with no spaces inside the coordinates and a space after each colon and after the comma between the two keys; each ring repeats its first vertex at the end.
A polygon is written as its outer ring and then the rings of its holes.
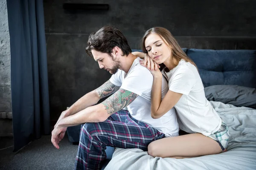
{"type": "Polygon", "coordinates": [[[102,102],[102,104],[105,106],[105,110],[107,110],[108,114],[112,114],[128,106],[137,96],[137,94],[131,91],[119,89],[119,91],[102,102]]]}

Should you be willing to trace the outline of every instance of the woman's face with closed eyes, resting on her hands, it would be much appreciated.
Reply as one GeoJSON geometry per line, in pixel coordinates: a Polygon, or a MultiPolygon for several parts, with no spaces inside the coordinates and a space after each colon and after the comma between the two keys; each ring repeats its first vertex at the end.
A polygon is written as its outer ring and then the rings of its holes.
{"type": "Polygon", "coordinates": [[[157,64],[163,63],[172,54],[166,42],[156,33],[151,33],[145,39],[145,47],[148,55],[157,64]]]}

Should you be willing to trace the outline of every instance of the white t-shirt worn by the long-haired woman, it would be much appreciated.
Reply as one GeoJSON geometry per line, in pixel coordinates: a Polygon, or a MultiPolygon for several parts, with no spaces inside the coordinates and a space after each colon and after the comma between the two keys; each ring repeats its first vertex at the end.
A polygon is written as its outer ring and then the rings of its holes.
{"type": "Polygon", "coordinates": [[[204,136],[221,127],[221,118],[204,94],[204,85],[195,65],[181,59],[171,71],[162,71],[169,79],[169,90],[183,94],[175,105],[181,130],[202,133],[204,136]]]}

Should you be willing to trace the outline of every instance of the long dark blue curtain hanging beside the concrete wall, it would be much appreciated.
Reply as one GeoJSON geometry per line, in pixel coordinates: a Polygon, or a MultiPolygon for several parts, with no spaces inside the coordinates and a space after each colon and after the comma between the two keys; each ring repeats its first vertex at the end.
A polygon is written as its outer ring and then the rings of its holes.
{"type": "Polygon", "coordinates": [[[50,133],[43,0],[7,0],[14,151],[50,133]]]}

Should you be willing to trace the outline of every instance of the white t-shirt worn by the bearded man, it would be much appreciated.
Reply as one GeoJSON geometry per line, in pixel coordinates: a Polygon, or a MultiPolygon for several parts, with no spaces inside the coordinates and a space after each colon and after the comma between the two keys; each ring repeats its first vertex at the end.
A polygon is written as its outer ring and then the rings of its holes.
{"type": "MultiPolygon", "coordinates": [[[[153,76],[150,71],[140,65],[140,58],[134,60],[130,70],[126,74],[122,70],[118,70],[110,78],[110,82],[120,89],[125,89],[137,94],[137,98],[127,106],[134,119],[145,122],[151,127],[156,128],[165,136],[178,136],[178,123],[175,109],[172,108],[159,119],[151,117],[151,88],[153,84],[153,76]]],[[[162,81],[162,97],[168,91],[168,82],[163,77],[162,81]]],[[[124,108],[125,109],[125,108],[124,108]]]]}

